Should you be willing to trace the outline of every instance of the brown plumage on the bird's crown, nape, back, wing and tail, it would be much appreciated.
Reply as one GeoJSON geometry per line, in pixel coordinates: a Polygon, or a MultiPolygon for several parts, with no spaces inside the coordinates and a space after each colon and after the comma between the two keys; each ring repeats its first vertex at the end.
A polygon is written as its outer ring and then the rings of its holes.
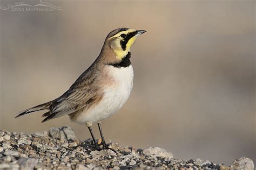
{"type": "MultiPolygon", "coordinates": [[[[107,35],[98,58],[82,75],[78,77],[68,91],[53,101],[26,109],[20,112],[16,117],[29,114],[34,111],[48,109],[49,112],[42,115],[47,116],[42,122],[69,114],[72,114],[70,115],[72,119],[75,117],[76,113],[79,113],[78,110],[84,110],[84,107],[88,109],[93,106],[93,104],[99,102],[103,95],[100,90],[100,83],[104,80],[100,80],[98,75],[102,72],[104,65],[118,62],[113,51],[110,49],[109,45],[107,45],[108,38],[120,30],[126,29],[116,29],[107,35]]],[[[103,78],[107,79],[108,77],[107,75],[104,75],[103,78]]]]}

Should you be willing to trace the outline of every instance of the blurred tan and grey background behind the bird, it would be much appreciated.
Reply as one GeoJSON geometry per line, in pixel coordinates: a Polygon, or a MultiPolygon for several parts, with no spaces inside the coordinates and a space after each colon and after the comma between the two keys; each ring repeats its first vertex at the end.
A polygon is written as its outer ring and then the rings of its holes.
{"type": "Polygon", "coordinates": [[[0,11],[0,129],[33,133],[69,125],[80,140],[90,138],[68,116],[46,123],[43,111],[14,117],[62,95],[110,31],[131,27],[147,32],[131,49],[131,96],[102,123],[106,140],[162,147],[177,159],[256,161],[255,1],[45,2],[62,10],[0,11]]]}

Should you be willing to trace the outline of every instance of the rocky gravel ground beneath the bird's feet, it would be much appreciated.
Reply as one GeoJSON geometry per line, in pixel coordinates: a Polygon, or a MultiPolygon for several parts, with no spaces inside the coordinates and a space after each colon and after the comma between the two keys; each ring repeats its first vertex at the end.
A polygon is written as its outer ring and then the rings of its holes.
{"type": "MultiPolygon", "coordinates": [[[[100,143],[100,141],[99,141],[100,143]]],[[[68,126],[34,134],[0,130],[0,169],[253,169],[242,157],[231,166],[208,160],[177,160],[159,147],[137,149],[111,143],[108,150],[93,149],[92,140],[79,141],[68,126]]]]}

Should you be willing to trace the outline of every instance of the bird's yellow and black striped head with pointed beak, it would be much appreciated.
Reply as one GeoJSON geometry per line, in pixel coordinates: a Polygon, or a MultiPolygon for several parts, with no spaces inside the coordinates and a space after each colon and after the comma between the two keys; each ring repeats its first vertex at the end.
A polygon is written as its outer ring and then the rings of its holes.
{"type": "Polygon", "coordinates": [[[111,31],[107,35],[105,43],[113,50],[116,58],[118,60],[122,60],[130,51],[130,48],[136,38],[144,32],[146,31],[119,28],[111,31]]]}

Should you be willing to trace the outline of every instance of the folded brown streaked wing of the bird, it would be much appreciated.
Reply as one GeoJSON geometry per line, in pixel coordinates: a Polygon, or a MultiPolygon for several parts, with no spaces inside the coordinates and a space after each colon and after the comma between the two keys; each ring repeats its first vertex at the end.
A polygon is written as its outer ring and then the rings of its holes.
{"type": "Polygon", "coordinates": [[[91,66],[87,69],[75,83],[72,84],[70,89],[62,96],[56,98],[49,108],[49,114],[43,122],[50,119],[57,118],[63,115],[69,115],[76,112],[86,105],[99,101],[102,94],[99,94],[96,82],[96,69],[91,66]]]}

